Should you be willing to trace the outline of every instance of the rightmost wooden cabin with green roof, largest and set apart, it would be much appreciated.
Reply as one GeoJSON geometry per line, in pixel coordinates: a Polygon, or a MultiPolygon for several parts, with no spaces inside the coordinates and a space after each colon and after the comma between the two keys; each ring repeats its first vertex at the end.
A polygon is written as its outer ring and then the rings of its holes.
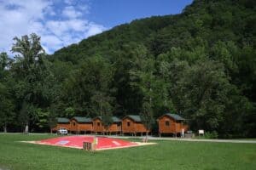
{"type": "Polygon", "coordinates": [[[188,130],[188,126],[184,124],[185,119],[182,116],[176,114],[167,113],[160,116],[157,119],[159,126],[159,134],[161,133],[172,133],[177,135],[181,134],[183,131],[188,130]]]}

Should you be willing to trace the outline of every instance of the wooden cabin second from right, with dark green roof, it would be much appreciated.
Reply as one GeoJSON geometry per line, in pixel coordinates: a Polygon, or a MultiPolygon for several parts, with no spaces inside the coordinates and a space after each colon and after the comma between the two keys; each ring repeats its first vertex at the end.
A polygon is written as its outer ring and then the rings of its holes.
{"type": "MultiPolygon", "coordinates": [[[[122,133],[146,133],[147,128],[144,126],[142,119],[138,115],[128,115],[122,119],[122,133]]],[[[149,132],[149,130],[148,130],[149,132]]]]}

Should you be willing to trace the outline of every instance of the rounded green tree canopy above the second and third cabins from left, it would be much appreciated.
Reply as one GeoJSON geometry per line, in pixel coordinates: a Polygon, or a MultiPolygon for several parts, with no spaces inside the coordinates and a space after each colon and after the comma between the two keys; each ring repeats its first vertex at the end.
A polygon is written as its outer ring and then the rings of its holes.
{"type": "Polygon", "coordinates": [[[113,68],[101,57],[86,59],[65,82],[67,103],[80,114],[100,115],[113,107],[113,68]]]}

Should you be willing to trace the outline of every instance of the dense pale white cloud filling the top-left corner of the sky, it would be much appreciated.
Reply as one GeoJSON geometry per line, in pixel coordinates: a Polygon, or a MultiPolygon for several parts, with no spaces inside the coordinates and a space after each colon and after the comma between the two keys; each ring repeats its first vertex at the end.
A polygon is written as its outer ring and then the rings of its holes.
{"type": "Polygon", "coordinates": [[[9,52],[15,36],[29,34],[38,27],[37,20],[43,20],[42,11],[49,3],[35,1],[5,1],[0,2],[0,47],[9,52]],[[33,28],[35,26],[35,28],[33,28]]]}

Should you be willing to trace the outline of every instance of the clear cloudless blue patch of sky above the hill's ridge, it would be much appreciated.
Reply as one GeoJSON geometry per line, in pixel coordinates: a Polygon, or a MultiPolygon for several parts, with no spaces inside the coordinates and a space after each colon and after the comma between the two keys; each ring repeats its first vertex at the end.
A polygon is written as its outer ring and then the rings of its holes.
{"type": "Polygon", "coordinates": [[[107,27],[152,15],[179,14],[192,0],[94,0],[91,20],[107,27]]]}

